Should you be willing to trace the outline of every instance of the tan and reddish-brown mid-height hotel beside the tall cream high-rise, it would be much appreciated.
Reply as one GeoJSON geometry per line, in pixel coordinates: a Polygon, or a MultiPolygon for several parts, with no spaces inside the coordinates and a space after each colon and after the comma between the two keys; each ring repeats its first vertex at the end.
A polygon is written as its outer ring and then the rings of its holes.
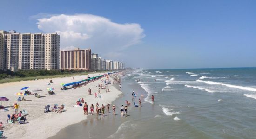
{"type": "Polygon", "coordinates": [[[91,49],[61,50],[60,55],[60,69],[89,70],[91,67],[91,49]]]}

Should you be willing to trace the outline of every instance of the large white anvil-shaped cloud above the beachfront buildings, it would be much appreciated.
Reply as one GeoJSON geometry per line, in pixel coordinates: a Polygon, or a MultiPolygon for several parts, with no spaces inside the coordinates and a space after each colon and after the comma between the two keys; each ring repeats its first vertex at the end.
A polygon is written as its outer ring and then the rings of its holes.
{"type": "Polygon", "coordinates": [[[57,32],[61,48],[91,48],[94,53],[106,58],[109,54],[120,57],[124,49],[140,43],[145,37],[139,24],[119,24],[91,14],[52,15],[38,19],[37,24],[46,33],[57,32]]]}

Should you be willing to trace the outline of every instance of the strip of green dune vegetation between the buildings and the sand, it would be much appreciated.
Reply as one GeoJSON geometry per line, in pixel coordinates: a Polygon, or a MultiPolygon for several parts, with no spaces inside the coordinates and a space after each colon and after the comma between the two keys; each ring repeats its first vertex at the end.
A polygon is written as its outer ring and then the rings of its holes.
{"type": "MultiPolygon", "coordinates": [[[[104,71],[101,71],[101,72],[104,72],[104,71]]],[[[84,71],[84,70],[18,70],[16,72],[13,72],[11,70],[6,70],[6,71],[0,70],[0,83],[87,75],[90,73],[95,73],[95,72],[84,71]]]]}

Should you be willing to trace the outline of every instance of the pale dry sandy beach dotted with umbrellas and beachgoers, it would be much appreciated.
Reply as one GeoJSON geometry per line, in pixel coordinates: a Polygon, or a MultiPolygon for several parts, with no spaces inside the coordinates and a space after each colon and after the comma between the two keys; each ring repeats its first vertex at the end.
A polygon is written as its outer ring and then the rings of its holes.
{"type": "MultiPolygon", "coordinates": [[[[90,77],[102,75],[105,73],[90,74],[90,77]]],[[[86,86],[82,86],[76,89],[61,90],[61,83],[70,83],[75,81],[80,81],[87,78],[87,75],[74,76],[73,77],[62,77],[62,78],[52,78],[52,79],[42,79],[37,81],[21,81],[21,82],[11,82],[0,84],[0,96],[7,97],[9,101],[2,101],[2,105],[13,106],[14,103],[20,105],[20,110],[25,109],[28,112],[27,123],[18,124],[18,122],[7,124],[7,114],[13,114],[14,109],[9,107],[9,111],[4,112],[0,110],[0,122],[3,122],[4,136],[8,139],[46,139],[48,137],[54,136],[62,128],[68,125],[75,124],[85,120],[86,115],[83,114],[82,107],[73,107],[76,105],[76,101],[79,98],[84,98],[84,101],[88,105],[99,104],[106,105],[108,102],[114,101],[121,91],[113,86],[113,84],[106,85],[110,92],[106,92],[106,89],[101,89],[101,97],[95,98],[94,92],[98,92],[98,87],[96,85],[101,84],[101,79],[106,79],[106,77],[101,78],[95,82],[91,82],[86,86]],[[53,83],[48,85],[47,83],[53,80],[53,83]],[[17,101],[19,96],[15,95],[17,92],[21,92],[20,89],[23,87],[29,87],[27,90],[31,91],[34,89],[41,89],[43,91],[38,92],[41,98],[36,98],[34,95],[24,96],[27,101],[17,101]],[[55,95],[49,95],[47,93],[47,88],[54,88],[55,95]],[[91,88],[92,95],[88,95],[88,89],[91,88]],[[44,107],[50,104],[53,107],[54,104],[65,105],[64,112],[56,113],[49,112],[44,113],[44,107]]],[[[112,79],[110,78],[112,82],[112,79]]],[[[103,85],[105,86],[105,85],[103,85]]],[[[22,91],[24,92],[24,90],[22,91]]],[[[34,92],[32,92],[34,93],[34,92]]]]}

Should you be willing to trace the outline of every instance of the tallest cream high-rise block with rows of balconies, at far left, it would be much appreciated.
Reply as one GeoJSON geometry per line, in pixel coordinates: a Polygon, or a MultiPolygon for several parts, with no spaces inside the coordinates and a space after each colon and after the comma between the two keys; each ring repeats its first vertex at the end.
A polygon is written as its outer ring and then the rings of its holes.
{"type": "Polygon", "coordinates": [[[4,33],[4,69],[59,69],[57,33],[4,33]]]}

